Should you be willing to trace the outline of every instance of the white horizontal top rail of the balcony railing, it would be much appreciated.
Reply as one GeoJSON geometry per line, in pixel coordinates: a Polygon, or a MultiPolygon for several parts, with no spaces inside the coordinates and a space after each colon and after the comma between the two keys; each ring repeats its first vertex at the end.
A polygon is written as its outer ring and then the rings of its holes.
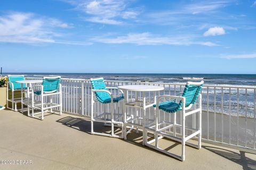
{"type": "MultiPolygon", "coordinates": [[[[42,79],[42,78],[31,78],[27,77],[27,79],[42,79]]],[[[61,78],[61,80],[68,81],[90,81],[90,79],[72,79],[72,78],[61,78]]],[[[105,80],[106,82],[116,82],[116,83],[145,83],[145,84],[156,84],[156,85],[165,85],[165,86],[184,86],[186,83],[162,83],[162,82],[144,82],[144,81],[116,81],[116,80],[105,80]]],[[[256,89],[256,86],[233,86],[233,85],[224,85],[221,84],[204,84],[204,87],[210,88],[233,88],[233,89],[256,89]]]]}

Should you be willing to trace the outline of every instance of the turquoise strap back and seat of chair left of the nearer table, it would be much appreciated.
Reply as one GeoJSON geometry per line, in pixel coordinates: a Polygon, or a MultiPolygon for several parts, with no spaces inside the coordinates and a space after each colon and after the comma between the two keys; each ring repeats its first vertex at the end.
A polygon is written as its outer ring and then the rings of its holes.
{"type": "MultiPolygon", "coordinates": [[[[107,90],[104,79],[91,80],[91,83],[92,83],[92,89],[107,90]]],[[[95,91],[94,94],[97,100],[100,101],[100,103],[103,103],[103,104],[111,103],[111,96],[107,92],[95,91]]],[[[123,94],[119,97],[113,98],[113,101],[114,103],[118,103],[118,101],[122,99],[124,99],[123,94]]]]}

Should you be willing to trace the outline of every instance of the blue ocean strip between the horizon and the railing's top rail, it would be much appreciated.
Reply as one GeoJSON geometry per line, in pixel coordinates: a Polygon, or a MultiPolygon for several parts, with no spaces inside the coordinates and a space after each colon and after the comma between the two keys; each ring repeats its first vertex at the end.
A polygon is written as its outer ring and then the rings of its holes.
{"type": "MultiPolygon", "coordinates": [[[[5,73],[13,74],[13,73],[5,73]]],[[[15,73],[17,74],[17,73],[15,73]]],[[[106,80],[185,83],[204,80],[205,84],[227,84],[233,86],[256,86],[256,74],[130,74],[130,73],[19,73],[26,77],[61,75],[62,78],[90,79],[103,77],[106,80]]]]}

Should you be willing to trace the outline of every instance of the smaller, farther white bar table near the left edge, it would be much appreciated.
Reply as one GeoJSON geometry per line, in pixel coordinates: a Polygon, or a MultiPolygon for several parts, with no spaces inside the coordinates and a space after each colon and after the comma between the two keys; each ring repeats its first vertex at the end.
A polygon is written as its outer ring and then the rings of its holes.
{"type": "Polygon", "coordinates": [[[23,105],[27,105],[28,107],[28,116],[29,115],[29,88],[31,88],[31,84],[35,84],[35,83],[43,83],[43,80],[20,80],[20,81],[15,81],[16,83],[21,83],[22,86],[21,86],[21,110],[22,110],[22,113],[23,113],[23,105]],[[26,84],[29,86],[27,86],[27,103],[24,103],[23,102],[23,84],[26,84]]]}

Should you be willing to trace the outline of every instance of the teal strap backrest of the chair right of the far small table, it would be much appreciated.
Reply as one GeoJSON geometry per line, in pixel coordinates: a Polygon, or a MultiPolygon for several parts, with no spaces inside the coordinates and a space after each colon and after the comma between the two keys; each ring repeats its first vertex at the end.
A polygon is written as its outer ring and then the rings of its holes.
{"type": "Polygon", "coordinates": [[[60,76],[58,76],[58,77],[44,77],[43,78],[44,91],[55,92],[59,89],[59,86],[60,86],[60,76]]]}

